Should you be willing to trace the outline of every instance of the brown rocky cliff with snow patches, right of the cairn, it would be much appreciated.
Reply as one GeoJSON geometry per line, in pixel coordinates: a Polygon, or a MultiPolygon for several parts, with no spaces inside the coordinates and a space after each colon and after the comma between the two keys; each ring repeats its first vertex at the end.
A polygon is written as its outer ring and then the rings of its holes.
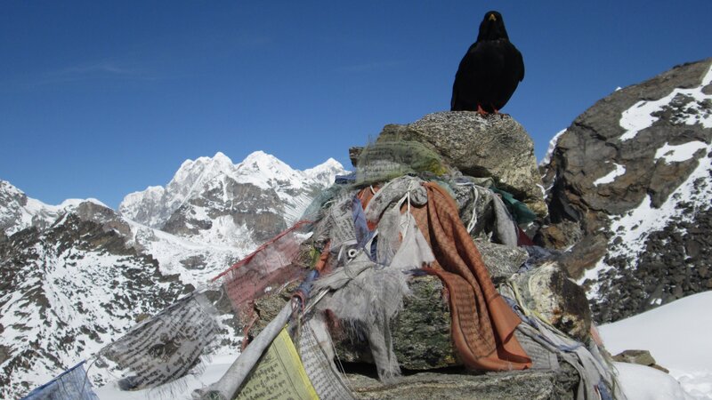
{"type": "Polygon", "coordinates": [[[541,167],[550,218],[538,241],[570,249],[563,263],[591,289],[600,322],[712,288],[710,64],[598,101],[541,167]]]}

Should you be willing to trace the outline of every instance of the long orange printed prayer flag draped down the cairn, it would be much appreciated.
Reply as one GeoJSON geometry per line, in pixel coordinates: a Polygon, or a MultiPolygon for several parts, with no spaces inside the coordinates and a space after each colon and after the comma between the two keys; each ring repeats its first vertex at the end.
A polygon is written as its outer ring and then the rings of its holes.
{"type": "Polygon", "coordinates": [[[425,270],[449,290],[452,337],[465,365],[490,371],[521,370],[531,360],[514,337],[521,320],[492,284],[457,204],[434,183],[425,183],[428,203],[411,208],[436,261],[425,270]]]}

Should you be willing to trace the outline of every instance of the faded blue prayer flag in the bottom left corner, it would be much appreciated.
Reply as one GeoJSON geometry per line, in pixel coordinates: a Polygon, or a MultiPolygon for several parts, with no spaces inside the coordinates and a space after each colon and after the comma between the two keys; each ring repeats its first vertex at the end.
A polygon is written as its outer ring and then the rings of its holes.
{"type": "Polygon", "coordinates": [[[98,400],[86,379],[84,361],[29,392],[21,400],[98,400]]]}

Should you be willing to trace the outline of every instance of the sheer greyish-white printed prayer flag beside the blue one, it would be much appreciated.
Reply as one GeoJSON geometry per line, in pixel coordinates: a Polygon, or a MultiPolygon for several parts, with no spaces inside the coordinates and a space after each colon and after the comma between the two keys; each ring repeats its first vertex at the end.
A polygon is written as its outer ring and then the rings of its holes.
{"type": "Polygon", "coordinates": [[[206,355],[219,326],[212,304],[201,292],[176,301],[134,326],[100,355],[130,370],[123,389],[154,388],[185,376],[206,355]]]}

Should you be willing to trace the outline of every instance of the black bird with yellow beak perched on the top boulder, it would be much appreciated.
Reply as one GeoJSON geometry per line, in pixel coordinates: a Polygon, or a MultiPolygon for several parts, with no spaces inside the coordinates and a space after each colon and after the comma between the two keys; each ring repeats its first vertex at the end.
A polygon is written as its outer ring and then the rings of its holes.
{"type": "Polygon", "coordinates": [[[477,42],[470,46],[457,68],[450,109],[498,114],[522,79],[522,53],[509,42],[502,15],[487,12],[477,42]]]}

